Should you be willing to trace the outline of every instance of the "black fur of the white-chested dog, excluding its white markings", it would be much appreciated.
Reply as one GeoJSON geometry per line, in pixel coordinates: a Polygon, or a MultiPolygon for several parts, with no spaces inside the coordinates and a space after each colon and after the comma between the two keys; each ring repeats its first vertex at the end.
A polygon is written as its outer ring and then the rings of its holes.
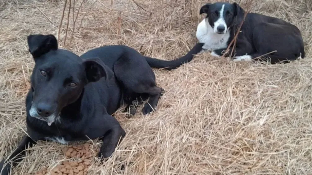
{"type": "MultiPolygon", "coordinates": [[[[234,38],[239,25],[244,17],[244,10],[236,3],[217,2],[214,4],[205,4],[200,9],[201,13],[206,13],[209,24],[213,27],[213,21],[218,16],[214,16],[213,12],[220,11],[222,5],[224,8],[224,19],[227,27],[230,28],[230,38],[227,44],[230,44],[234,38]],[[233,14],[233,15],[227,15],[233,14]]],[[[221,15],[221,14],[220,14],[221,15]]],[[[214,50],[218,55],[222,55],[226,48],[214,50]]],[[[232,47],[230,48],[230,53],[232,47]]],[[[304,42],[300,30],[284,20],[265,16],[257,13],[248,13],[238,35],[235,56],[250,55],[252,59],[258,61],[268,61],[272,64],[278,62],[289,62],[301,56],[305,57],[304,42]],[[268,55],[267,53],[277,51],[268,55]],[[265,55],[261,58],[260,56],[265,55]]],[[[228,57],[229,55],[225,55],[228,57]]],[[[232,55],[233,56],[233,55],[232,55]]]]}

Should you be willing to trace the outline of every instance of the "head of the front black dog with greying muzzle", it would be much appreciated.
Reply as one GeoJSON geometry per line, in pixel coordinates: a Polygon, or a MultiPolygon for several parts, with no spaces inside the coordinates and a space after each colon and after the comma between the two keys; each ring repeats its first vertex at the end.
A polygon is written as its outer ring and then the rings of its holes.
{"type": "Polygon", "coordinates": [[[113,76],[100,59],[82,60],[70,51],[59,49],[54,35],[29,35],[27,42],[35,60],[29,114],[49,126],[60,119],[62,108],[79,99],[86,84],[113,76]]]}

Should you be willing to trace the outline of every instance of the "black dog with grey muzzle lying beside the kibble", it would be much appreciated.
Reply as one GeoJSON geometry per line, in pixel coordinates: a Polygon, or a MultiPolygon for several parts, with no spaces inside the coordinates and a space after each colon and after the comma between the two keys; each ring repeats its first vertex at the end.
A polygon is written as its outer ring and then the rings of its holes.
{"type": "Polygon", "coordinates": [[[61,143],[102,138],[99,157],[115,151],[124,129],[111,116],[122,101],[149,98],[144,114],[153,111],[162,94],[151,67],[174,69],[188,62],[203,44],[196,44],[182,58],[161,61],[144,57],[127,46],[104,46],[80,57],[59,49],[53,35],[29,35],[29,51],[35,60],[31,89],[26,97],[27,133],[18,148],[0,163],[9,174],[37,140],[61,143]],[[12,161],[12,162],[11,162],[12,161]]]}

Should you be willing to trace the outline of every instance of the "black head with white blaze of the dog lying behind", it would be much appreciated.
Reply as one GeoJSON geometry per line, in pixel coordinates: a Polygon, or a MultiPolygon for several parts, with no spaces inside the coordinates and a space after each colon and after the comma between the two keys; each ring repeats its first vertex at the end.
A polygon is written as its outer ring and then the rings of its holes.
{"type": "Polygon", "coordinates": [[[244,10],[236,3],[207,3],[201,7],[199,14],[206,13],[206,19],[214,33],[225,34],[233,25],[236,17],[244,16],[244,10]]]}

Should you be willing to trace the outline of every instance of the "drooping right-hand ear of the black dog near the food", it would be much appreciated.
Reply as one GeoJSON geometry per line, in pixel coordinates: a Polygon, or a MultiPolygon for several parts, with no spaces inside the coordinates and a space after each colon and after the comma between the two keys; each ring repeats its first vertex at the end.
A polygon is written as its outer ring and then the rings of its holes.
{"type": "Polygon", "coordinates": [[[83,62],[88,82],[99,81],[102,77],[109,80],[114,72],[107,67],[100,58],[90,58],[83,62]]]}

